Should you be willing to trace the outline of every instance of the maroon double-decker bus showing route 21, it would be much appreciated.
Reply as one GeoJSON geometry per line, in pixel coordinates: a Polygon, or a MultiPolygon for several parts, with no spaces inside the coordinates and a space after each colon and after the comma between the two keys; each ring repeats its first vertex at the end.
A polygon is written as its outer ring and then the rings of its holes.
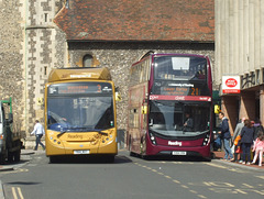
{"type": "Polygon", "coordinates": [[[132,65],[131,154],[210,158],[212,77],[208,56],[150,54],[132,65]]]}

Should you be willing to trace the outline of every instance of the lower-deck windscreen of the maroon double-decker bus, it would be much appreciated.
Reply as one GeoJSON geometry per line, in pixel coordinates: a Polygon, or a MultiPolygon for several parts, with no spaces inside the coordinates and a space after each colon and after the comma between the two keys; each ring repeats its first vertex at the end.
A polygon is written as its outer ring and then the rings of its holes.
{"type": "Polygon", "coordinates": [[[150,130],[163,136],[196,136],[209,131],[210,103],[150,101],[150,130]]]}

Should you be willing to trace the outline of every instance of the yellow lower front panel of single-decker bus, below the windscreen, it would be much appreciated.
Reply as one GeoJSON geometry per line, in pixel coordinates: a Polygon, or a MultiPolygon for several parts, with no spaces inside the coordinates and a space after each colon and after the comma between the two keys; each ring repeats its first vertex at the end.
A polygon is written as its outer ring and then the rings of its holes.
{"type": "Polygon", "coordinates": [[[46,155],[117,155],[117,129],[103,132],[46,132],[46,155]]]}

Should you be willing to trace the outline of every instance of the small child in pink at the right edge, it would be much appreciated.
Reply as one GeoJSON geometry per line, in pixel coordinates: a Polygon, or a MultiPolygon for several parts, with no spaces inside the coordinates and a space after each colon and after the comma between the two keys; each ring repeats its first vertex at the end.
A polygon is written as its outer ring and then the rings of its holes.
{"type": "Polygon", "coordinates": [[[257,156],[258,156],[258,166],[262,166],[262,156],[263,156],[263,151],[264,151],[264,134],[263,131],[258,132],[257,139],[254,142],[254,146],[252,152],[255,152],[254,158],[252,164],[256,163],[257,156]]]}

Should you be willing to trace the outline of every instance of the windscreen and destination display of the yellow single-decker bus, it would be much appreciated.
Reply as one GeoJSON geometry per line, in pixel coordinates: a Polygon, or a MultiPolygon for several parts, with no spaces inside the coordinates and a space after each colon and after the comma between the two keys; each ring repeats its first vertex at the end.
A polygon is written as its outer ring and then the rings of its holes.
{"type": "Polygon", "coordinates": [[[47,129],[87,132],[113,128],[113,98],[110,95],[112,89],[110,84],[100,84],[100,92],[95,89],[99,84],[94,82],[52,85],[50,90],[53,92],[50,92],[47,99],[47,129]],[[84,91],[80,91],[81,89],[84,91]]]}

